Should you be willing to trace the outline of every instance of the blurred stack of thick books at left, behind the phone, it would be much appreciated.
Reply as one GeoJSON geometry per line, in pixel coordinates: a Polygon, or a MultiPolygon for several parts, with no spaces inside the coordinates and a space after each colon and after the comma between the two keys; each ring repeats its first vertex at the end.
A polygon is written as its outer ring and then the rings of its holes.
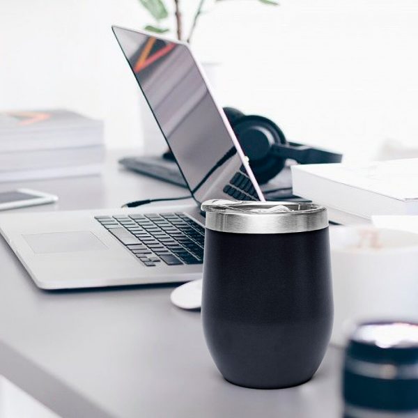
{"type": "Polygon", "coordinates": [[[67,110],[0,114],[0,181],[100,173],[103,130],[67,110]]]}

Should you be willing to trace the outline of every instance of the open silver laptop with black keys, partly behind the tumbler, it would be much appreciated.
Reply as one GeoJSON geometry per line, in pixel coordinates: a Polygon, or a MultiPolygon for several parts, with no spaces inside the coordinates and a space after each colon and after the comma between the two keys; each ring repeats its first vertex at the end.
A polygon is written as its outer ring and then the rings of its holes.
{"type": "Polygon", "coordinates": [[[113,31],[194,203],[181,209],[165,205],[1,215],[1,234],[40,288],[197,279],[203,262],[201,202],[263,200],[189,47],[141,31],[113,31]]]}

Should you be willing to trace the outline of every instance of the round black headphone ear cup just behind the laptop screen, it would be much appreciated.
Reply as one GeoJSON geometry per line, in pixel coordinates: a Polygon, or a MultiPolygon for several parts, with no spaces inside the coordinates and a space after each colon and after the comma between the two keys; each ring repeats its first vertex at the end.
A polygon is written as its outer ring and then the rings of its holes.
{"type": "Polygon", "coordinates": [[[284,168],[286,159],[272,154],[274,144],[286,144],[281,129],[268,118],[257,115],[242,116],[233,125],[242,150],[258,183],[267,183],[284,168]]]}

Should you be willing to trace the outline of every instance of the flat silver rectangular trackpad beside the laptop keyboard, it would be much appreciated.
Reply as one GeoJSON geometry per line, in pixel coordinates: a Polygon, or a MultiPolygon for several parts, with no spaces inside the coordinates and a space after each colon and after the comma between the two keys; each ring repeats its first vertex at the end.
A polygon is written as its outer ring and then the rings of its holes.
{"type": "Polygon", "coordinates": [[[35,254],[107,249],[91,231],[33,233],[22,236],[35,254]]]}

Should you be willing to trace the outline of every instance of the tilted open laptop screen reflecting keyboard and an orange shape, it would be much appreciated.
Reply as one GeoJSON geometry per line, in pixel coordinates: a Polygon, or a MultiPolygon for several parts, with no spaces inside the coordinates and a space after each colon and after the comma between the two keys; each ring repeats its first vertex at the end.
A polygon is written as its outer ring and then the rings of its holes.
{"type": "Polygon", "coordinates": [[[113,30],[194,199],[263,199],[189,49],[113,30]]]}

